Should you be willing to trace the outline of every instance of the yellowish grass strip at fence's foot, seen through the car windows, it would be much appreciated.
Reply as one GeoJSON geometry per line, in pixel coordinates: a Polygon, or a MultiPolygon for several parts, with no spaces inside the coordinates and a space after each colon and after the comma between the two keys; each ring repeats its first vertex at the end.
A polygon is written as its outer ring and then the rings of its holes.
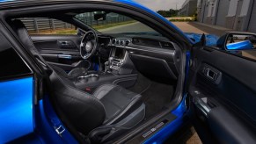
{"type": "MultiPolygon", "coordinates": [[[[96,30],[102,30],[102,29],[111,28],[114,26],[128,25],[128,24],[132,24],[132,23],[135,23],[135,20],[120,22],[120,23],[113,23],[113,24],[106,24],[106,25],[92,25],[92,27],[96,30]]],[[[77,30],[75,30],[75,29],[58,29],[58,30],[48,30],[48,31],[42,31],[39,33],[31,33],[31,34],[76,35],[77,30]]]]}

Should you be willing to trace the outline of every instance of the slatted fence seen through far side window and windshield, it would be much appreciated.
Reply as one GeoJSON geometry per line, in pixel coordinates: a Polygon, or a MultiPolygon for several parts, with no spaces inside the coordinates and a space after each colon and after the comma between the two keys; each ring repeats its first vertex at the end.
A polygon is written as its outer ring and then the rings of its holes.
{"type": "MultiPolygon", "coordinates": [[[[24,25],[26,25],[29,33],[40,33],[45,31],[55,31],[60,29],[74,29],[74,25],[56,20],[53,18],[19,18],[24,25]]],[[[83,21],[86,25],[107,25],[113,23],[120,23],[131,20],[131,18],[125,16],[119,17],[107,17],[104,21],[96,21],[93,17],[81,17],[78,18],[83,21]]]]}

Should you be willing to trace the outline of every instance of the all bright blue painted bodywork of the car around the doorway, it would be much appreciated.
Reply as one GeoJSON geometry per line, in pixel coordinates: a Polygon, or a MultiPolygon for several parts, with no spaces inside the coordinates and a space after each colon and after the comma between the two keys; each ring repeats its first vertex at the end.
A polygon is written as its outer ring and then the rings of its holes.
{"type": "MultiPolygon", "coordinates": [[[[9,2],[11,0],[2,0],[0,2],[9,2]]],[[[201,34],[184,33],[178,27],[172,25],[170,21],[163,18],[155,11],[129,0],[115,0],[121,4],[132,5],[143,11],[150,12],[152,15],[161,18],[165,23],[175,28],[180,35],[187,38],[187,41],[194,44],[201,39],[201,34]],[[193,38],[194,40],[192,40],[193,38]]],[[[216,36],[208,35],[208,46],[216,44],[216,36]]],[[[189,65],[189,56],[187,54],[187,72],[189,65]]],[[[29,138],[33,143],[77,143],[77,140],[63,126],[61,120],[57,117],[53,107],[49,104],[48,96],[40,100],[39,104],[33,105],[34,90],[33,77],[26,77],[0,83],[0,143],[17,140],[26,135],[33,135],[29,138]],[[13,87],[18,88],[13,90],[13,87]],[[15,106],[14,106],[15,105],[15,106]],[[39,120],[40,119],[40,120],[39,120]],[[37,121],[37,122],[35,122],[37,121]],[[40,129],[41,133],[37,133],[40,129]]],[[[183,123],[183,116],[186,112],[185,97],[181,100],[179,106],[172,111],[177,119],[165,126],[161,131],[152,135],[144,143],[161,143],[172,133],[179,129],[183,123]]]]}

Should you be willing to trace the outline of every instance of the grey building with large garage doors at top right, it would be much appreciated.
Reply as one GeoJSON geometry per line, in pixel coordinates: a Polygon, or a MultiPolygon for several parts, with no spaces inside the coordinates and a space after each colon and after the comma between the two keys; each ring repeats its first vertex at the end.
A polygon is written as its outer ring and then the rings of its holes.
{"type": "Polygon", "coordinates": [[[198,21],[256,32],[256,0],[198,0],[198,21]]]}

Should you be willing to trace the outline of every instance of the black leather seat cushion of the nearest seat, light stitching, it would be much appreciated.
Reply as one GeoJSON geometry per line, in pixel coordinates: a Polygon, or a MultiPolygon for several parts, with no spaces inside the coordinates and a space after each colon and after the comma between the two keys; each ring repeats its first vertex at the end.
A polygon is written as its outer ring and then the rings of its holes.
{"type": "Polygon", "coordinates": [[[97,97],[105,107],[106,119],[103,125],[119,122],[143,104],[141,95],[112,83],[99,86],[93,97],[97,97]]]}

